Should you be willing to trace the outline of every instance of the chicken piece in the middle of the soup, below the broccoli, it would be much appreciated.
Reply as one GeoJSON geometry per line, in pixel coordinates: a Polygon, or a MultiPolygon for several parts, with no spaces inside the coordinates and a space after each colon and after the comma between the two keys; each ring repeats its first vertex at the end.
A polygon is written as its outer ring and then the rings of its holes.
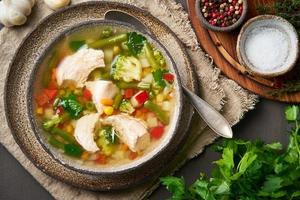
{"type": "Polygon", "coordinates": [[[117,86],[111,81],[88,81],[85,86],[92,93],[92,100],[100,115],[103,113],[101,99],[112,99],[118,92],[117,86]]]}

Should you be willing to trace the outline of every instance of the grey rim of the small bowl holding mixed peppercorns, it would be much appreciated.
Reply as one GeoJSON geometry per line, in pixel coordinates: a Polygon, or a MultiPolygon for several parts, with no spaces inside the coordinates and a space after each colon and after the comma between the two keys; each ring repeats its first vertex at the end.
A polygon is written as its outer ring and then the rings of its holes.
{"type": "Polygon", "coordinates": [[[195,2],[195,10],[196,10],[196,15],[198,17],[198,19],[200,20],[200,22],[203,24],[203,26],[209,30],[212,31],[217,31],[217,32],[230,32],[233,31],[235,29],[237,29],[246,19],[247,14],[248,14],[248,1],[247,0],[243,0],[243,12],[241,17],[231,26],[228,27],[218,27],[218,26],[213,26],[211,24],[208,23],[208,21],[204,18],[204,16],[202,15],[201,9],[200,9],[200,2],[201,0],[196,0],[195,2]]]}

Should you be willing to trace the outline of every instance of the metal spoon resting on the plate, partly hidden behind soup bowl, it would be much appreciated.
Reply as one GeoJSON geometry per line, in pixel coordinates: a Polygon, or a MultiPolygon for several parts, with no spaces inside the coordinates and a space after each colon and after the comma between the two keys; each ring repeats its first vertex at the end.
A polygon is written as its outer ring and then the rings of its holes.
{"type": "MultiPolygon", "coordinates": [[[[123,21],[125,23],[134,24],[134,27],[141,32],[146,32],[151,34],[151,31],[140,22],[137,18],[131,16],[130,14],[119,11],[119,10],[110,10],[105,13],[105,19],[123,21]]],[[[207,123],[207,125],[218,135],[225,138],[232,138],[232,130],[227,122],[227,120],[212,106],[198,97],[196,94],[191,92],[186,87],[182,86],[184,94],[188,97],[191,104],[197,110],[202,119],[207,123]]]]}

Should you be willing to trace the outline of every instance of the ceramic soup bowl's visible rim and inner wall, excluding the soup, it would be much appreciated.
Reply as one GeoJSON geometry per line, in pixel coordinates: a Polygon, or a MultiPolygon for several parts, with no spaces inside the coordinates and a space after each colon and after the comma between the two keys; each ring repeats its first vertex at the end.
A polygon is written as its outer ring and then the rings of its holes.
{"type": "Polygon", "coordinates": [[[111,173],[124,173],[128,170],[138,170],[140,166],[146,165],[150,160],[158,156],[159,154],[164,152],[164,149],[168,147],[170,144],[170,141],[172,138],[176,135],[176,132],[178,130],[179,120],[180,120],[180,113],[182,112],[182,90],[181,90],[181,83],[179,79],[178,70],[176,67],[175,62],[171,58],[169,52],[158,42],[154,37],[147,34],[144,30],[142,30],[144,33],[141,33],[139,30],[137,30],[134,26],[120,22],[120,21],[113,21],[113,20],[91,20],[88,22],[83,22],[76,24],[75,26],[67,29],[63,33],[61,33],[57,38],[54,38],[53,42],[46,48],[46,50],[42,53],[42,55],[38,58],[37,62],[35,63],[34,70],[32,71],[29,86],[28,86],[28,112],[31,119],[32,128],[36,133],[37,138],[43,145],[46,151],[48,151],[53,158],[60,162],[62,165],[65,165],[66,167],[69,167],[74,170],[81,171],[83,173],[87,174],[106,174],[107,176],[111,175],[111,173]],[[45,73],[46,67],[42,63],[44,60],[51,55],[53,48],[55,45],[61,41],[66,36],[78,32],[83,31],[84,29],[90,29],[94,27],[115,27],[115,28],[122,28],[124,30],[127,30],[129,32],[134,31],[138,32],[140,34],[143,34],[147,40],[154,44],[156,48],[158,48],[164,57],[166,58],[167,65],[170,68],[170,71],[172,73],[176,74],[176,78],[174,81],[174,88],[175,88],[175,108],[173,116],[171,117],[170,124],[169,124],[169,130],[167,133],[164,134],[164,137],[162,138],[162,141],[159,143],[159,145],[154,148],[152,151],[148,152],[146,155],[142,156],[141,158],[135,159],[132,162],[128,164],[123,164],[120,166],[91,166],[91,165],[84,165],[80,160],[73,159],[69,156],[65,156],[61,152],[59,152],[56,148],[52,147],[46,138],[46,133],[43,133],[43,128],[41,126],[41,122],[38,122],[35,116],[35,100],[34,97],[36,96],[36,90],[39,88],[39,84],[42,82],[41,77],[43,77],[43,74],[45,73]]]}

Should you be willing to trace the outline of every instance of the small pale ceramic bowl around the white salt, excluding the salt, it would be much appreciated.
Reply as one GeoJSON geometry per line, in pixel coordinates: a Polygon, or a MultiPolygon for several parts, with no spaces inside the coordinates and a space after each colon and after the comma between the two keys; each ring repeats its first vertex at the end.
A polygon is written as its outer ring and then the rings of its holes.
{"type": "MultiPolygon", "coordinates": [[[[293,69],[299,56],[299,43],[298,34],[291,23],[287,20],[274,16],[274,15],[261,15],[250,19],[242,27],[241,32],[238,36],[236,51],[239,62],[247,69],[250,74],[263,76],[263,77],[275,77],[283,75],[293,69]],[[249,61],[246,55],[246,42],[247,39],[255,34],[255,31],[272,29],[279,31],[284,35],[288,41],[288,53],[282,65],[272,70],[263,70],[259,67],[254,66],[249,61]]],[[[280,45],[280,44],[278,44],[280,45]]],[[[276,51],[276,49],[274,49],[276,51]]]]}

